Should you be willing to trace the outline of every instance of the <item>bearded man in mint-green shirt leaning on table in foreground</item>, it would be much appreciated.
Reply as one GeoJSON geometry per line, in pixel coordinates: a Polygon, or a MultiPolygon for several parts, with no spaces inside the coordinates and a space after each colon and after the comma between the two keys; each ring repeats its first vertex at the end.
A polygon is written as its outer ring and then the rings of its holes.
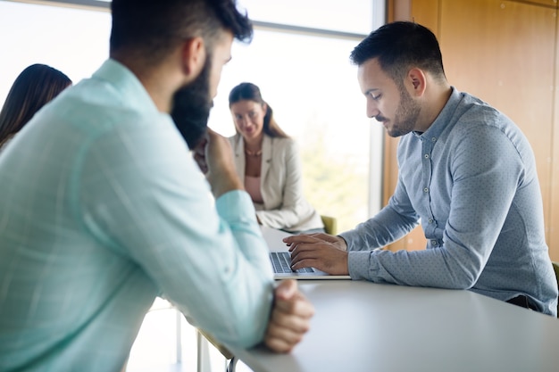
{"type": "Polygon", "coordinates": [[[229,0],[112,10],[111,58],[0,156],[0,370],[121,370],[158,294],[221,343],[291,350],[313,307],[274,292],[229,142],[195,162],[169,114],[183,89],[209,103],[249,21],[229,0]]]}

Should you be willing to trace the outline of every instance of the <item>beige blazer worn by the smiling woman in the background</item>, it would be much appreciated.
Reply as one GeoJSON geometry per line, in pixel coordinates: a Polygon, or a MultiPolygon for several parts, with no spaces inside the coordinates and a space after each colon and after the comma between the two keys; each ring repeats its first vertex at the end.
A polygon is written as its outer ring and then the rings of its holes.
{"type": "MultiPolygon", "coordinates": [[[[229,137],[238,177],[245,182],[245,141],[229,137]]],[[[263,203],[254,209],[263,226],[297,232],[324,227],[321,216],[303,195],[303,174],[296,142],[264,135],[260,191],[263,203]]]]}

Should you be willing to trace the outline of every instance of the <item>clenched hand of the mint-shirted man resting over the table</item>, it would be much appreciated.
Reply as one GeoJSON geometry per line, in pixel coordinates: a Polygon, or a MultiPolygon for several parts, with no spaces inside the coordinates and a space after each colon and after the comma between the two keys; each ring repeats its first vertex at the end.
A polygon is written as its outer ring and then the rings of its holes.
{"type": "Polygon", "coordinates": [[[299,292],[296,280],[281,281],[274,290],[274,306],[264,343],[272,351],[291,351],[309,330],[313,315],[313,304],[299,292]]]}

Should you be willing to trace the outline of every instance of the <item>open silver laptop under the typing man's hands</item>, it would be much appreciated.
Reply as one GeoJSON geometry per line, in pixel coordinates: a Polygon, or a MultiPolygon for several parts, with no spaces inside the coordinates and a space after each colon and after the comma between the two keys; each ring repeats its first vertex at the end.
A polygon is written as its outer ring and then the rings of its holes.
{"type": "Polygon", "coordinates": [[[276,230],[275,228],[262,227],[264,239],[270,249],[271,267],[275,279],[351,279],[348,275],[330,275],[314,268],[291,269],[291,253],[282,239],[291,234],[276,230]]]}

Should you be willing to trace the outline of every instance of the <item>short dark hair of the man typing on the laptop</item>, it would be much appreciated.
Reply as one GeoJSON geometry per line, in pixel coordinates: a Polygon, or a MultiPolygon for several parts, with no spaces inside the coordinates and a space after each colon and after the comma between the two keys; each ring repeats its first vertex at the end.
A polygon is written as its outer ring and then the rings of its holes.
{"type": "Polygon", "coordinates": [[[358,66],[373,58],[379,59],[380,68],[395,81],[403,79],[412,67],[445,78],[437,37],[415,22],[396,21],[381,26],[355,46],[350,55],[351,62],[358,66]]]}

